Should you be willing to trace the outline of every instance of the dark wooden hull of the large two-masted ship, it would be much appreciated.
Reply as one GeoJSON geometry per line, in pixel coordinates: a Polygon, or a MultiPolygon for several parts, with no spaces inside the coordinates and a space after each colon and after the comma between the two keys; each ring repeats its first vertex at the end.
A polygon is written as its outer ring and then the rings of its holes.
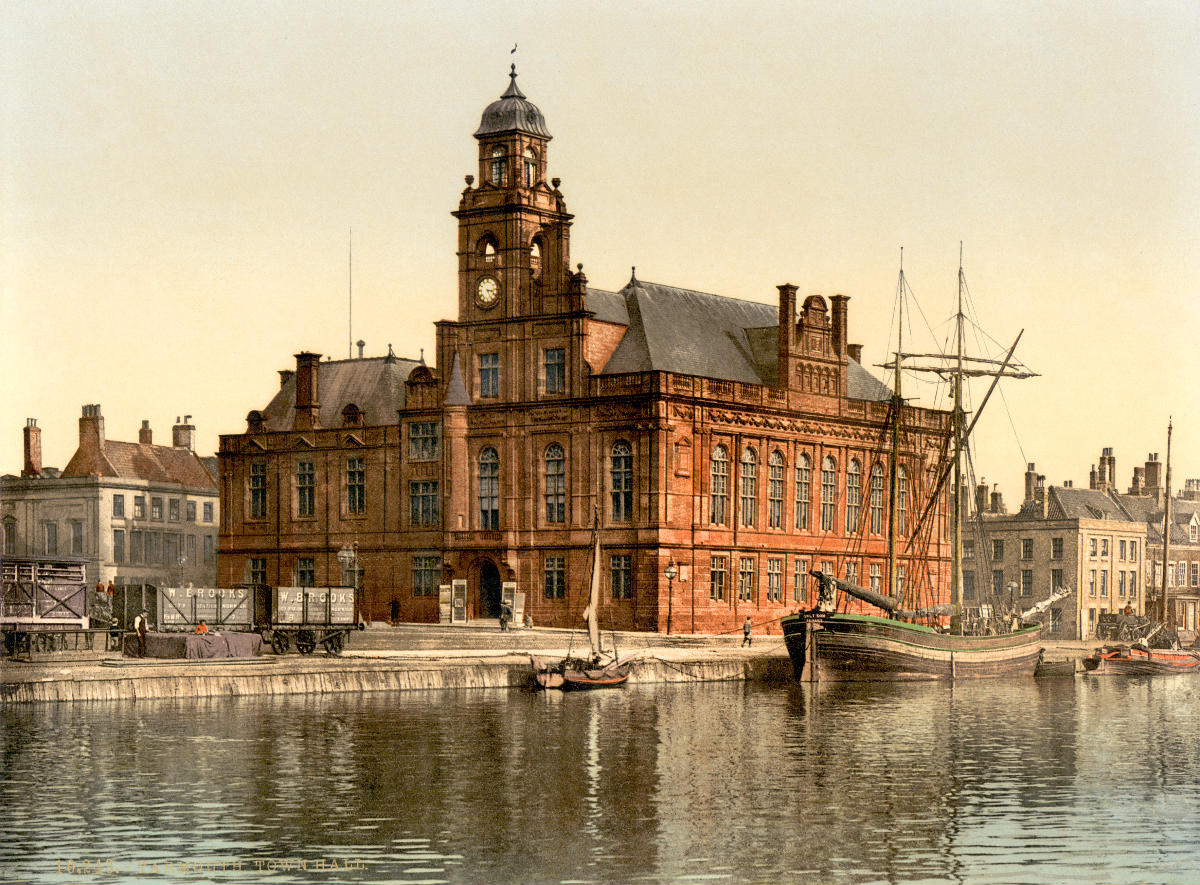
{"type": "Polygon", "coordinates": [[[1042,627],[1001,636],[952,636],[871,615],[804,612],[782,619],[798,680],[920,681],[1032,676],[1042,627]]]}

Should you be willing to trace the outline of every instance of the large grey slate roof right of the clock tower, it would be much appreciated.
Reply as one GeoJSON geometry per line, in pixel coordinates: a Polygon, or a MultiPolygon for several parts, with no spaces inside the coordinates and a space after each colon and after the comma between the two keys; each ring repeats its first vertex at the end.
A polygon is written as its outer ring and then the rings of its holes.
{"type": "MultiPolygon", "coordinates": [[[[626,326],[598,373],[674,372],[743,384],[776,384],[779,308],[630,279],[619,293],[588,289],[595,319],[626,326]]],[[[847,359],[851,399],[887,401],[890,389],[847,359]]]]}

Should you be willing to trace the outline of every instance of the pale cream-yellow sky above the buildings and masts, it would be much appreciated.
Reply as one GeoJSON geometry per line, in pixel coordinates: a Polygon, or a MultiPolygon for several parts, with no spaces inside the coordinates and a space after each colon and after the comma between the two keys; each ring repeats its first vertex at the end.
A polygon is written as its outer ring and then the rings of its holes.
{"type": "Polygon", "coordinates": [[[1111,446],[1124,488],[1170,416],[1200,477],[1200,5],[1096,0],[0,0],[0,472],[28,417],[47,465],[86,403],[110,439],[191,415],[211,453],[300,350],[432,360],[512,61],[590,285],[848,295],[871,366],[901,248],[914,347],[961,249],[968,344],[1024,330],[1039,373],[985,409],[978,476],[1012,506],[1027,462],[1086,486],[1111,446]]]}

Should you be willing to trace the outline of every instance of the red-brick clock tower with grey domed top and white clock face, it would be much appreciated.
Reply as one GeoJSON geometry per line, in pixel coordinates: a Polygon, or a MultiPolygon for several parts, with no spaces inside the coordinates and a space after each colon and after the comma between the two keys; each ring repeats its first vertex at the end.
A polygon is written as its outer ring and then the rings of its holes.
{"type": "Polygon", "coordinates": [[[475,130],[479,174],[467,176],[458,210],[458,321],[496,323],[569,309],[571,216],[546,179],[546,120],[517,86],[475,130]]]}

